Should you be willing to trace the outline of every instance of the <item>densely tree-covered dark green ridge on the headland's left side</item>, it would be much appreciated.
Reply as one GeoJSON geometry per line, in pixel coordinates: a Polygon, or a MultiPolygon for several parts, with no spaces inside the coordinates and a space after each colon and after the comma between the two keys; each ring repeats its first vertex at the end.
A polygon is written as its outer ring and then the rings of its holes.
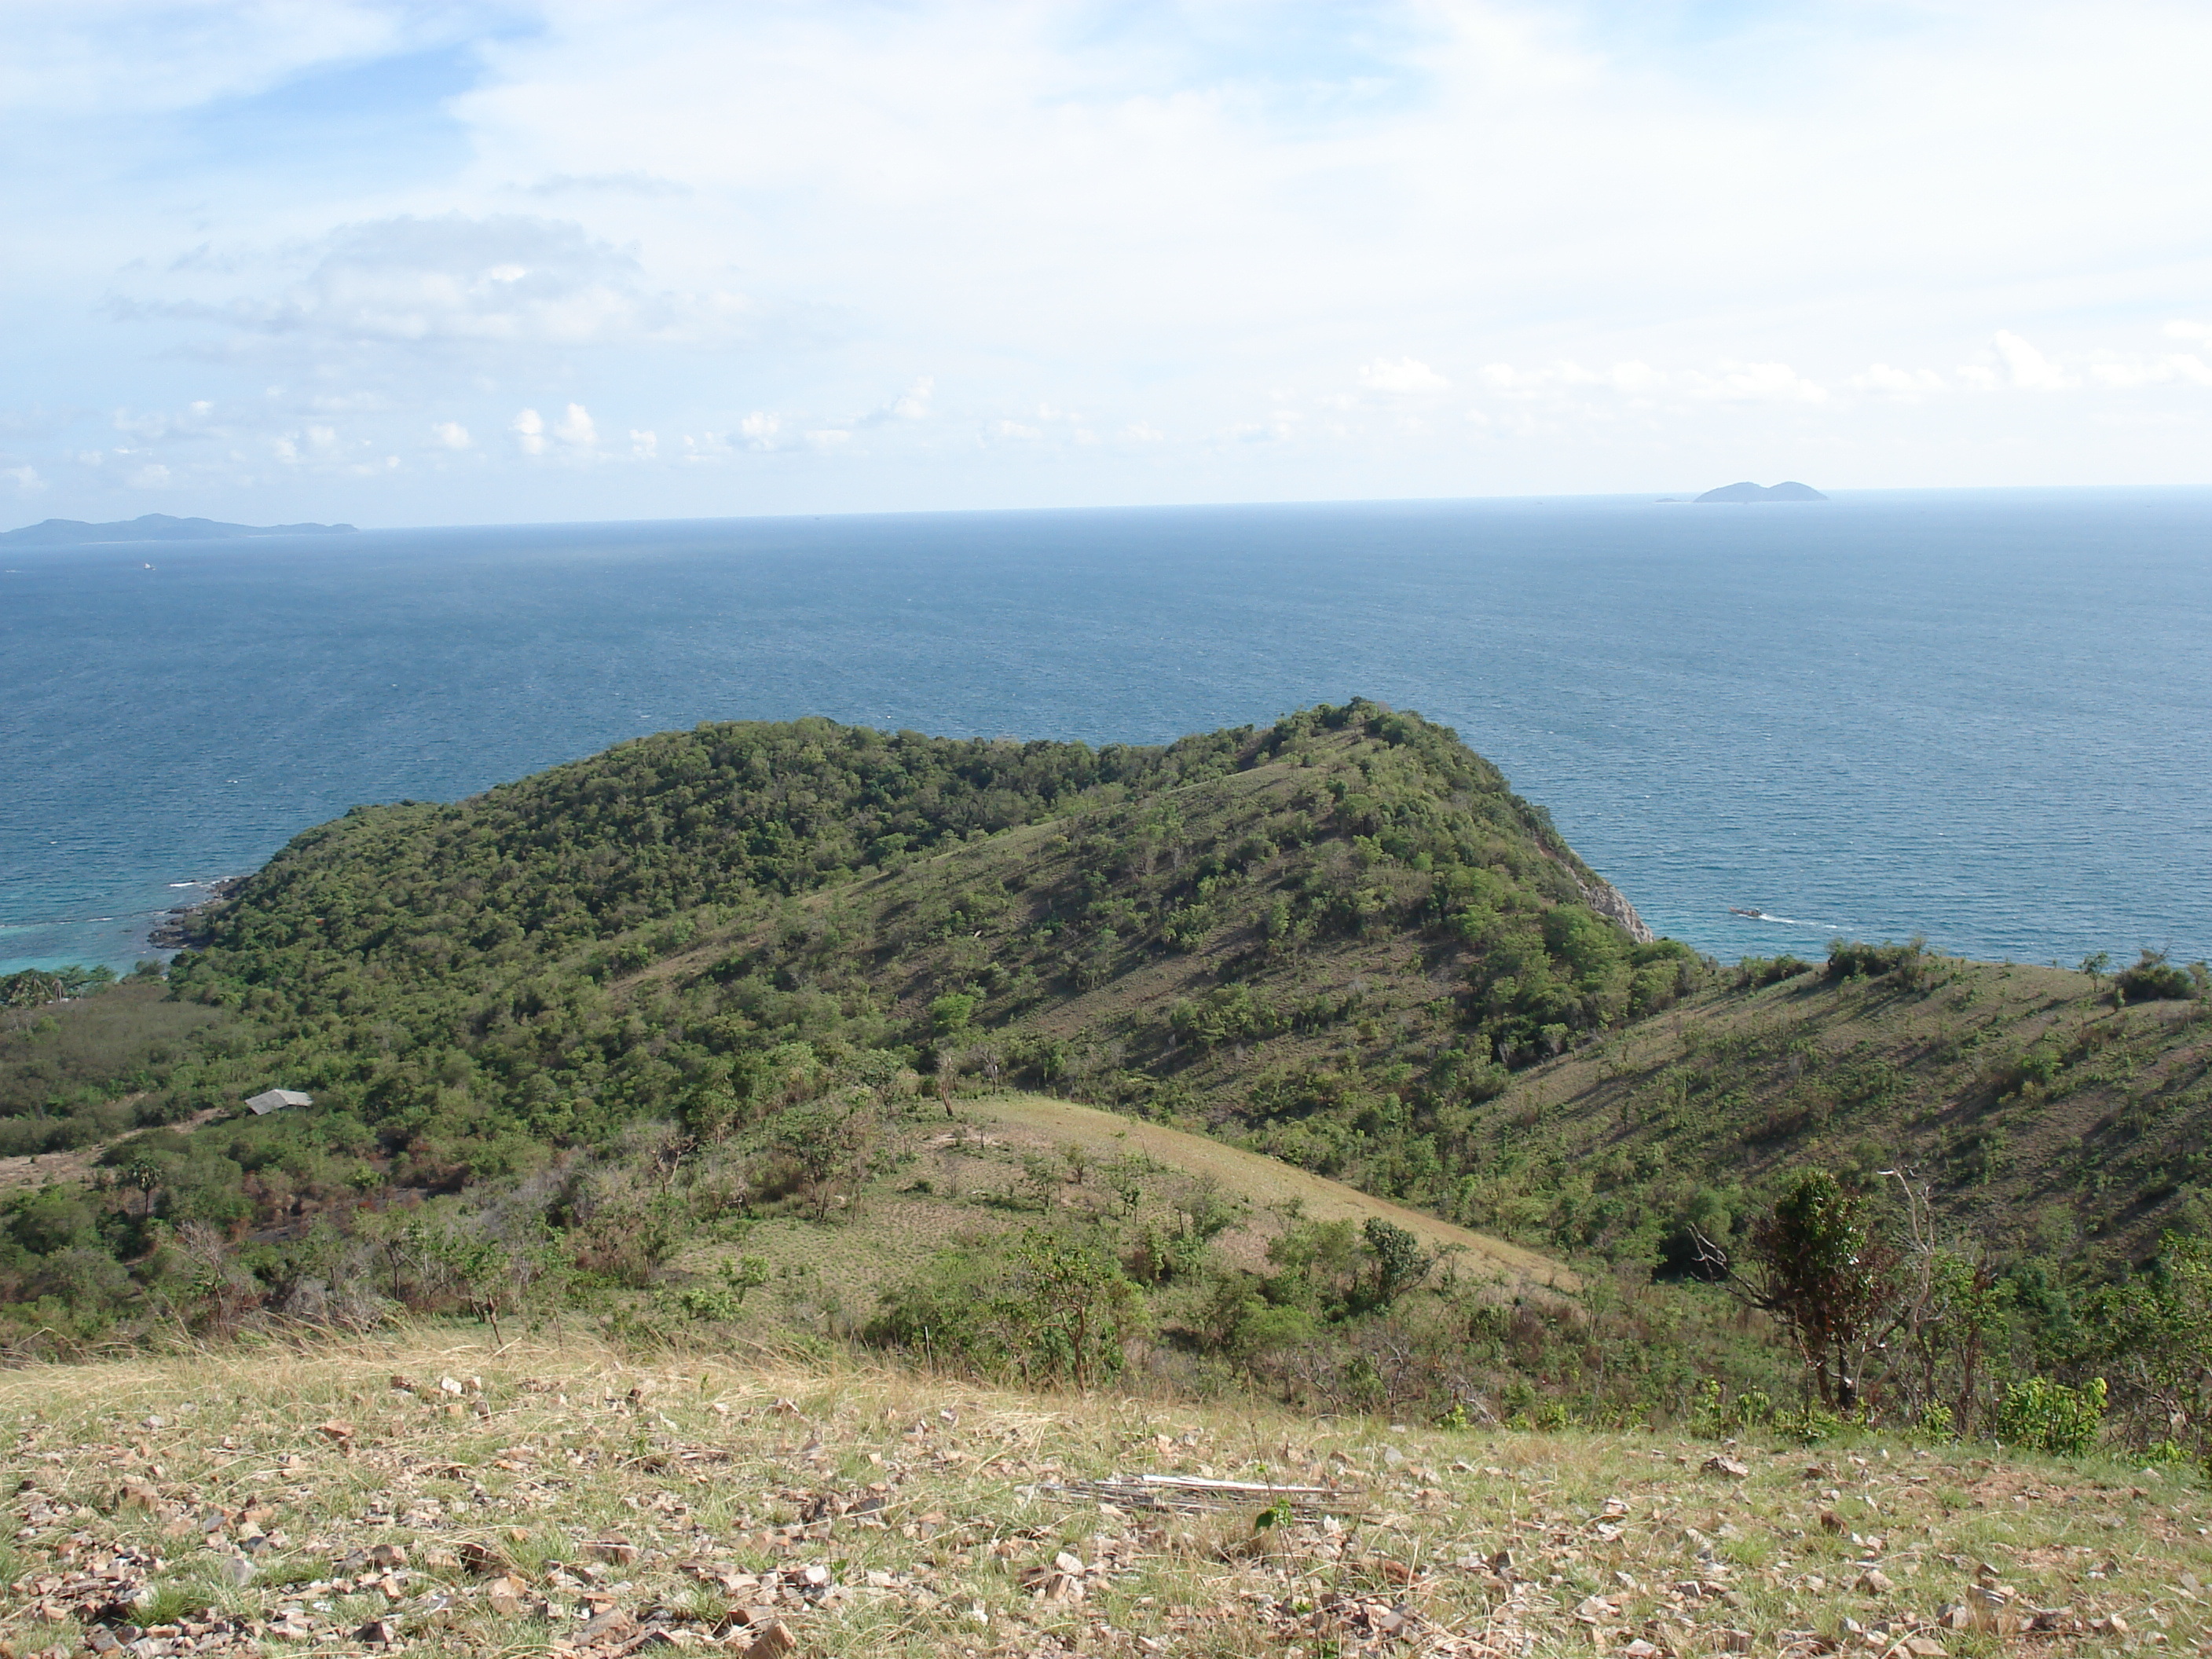
{"type": "Polygon", "coordinates": [[[305,947],[436,978],[1172,787],[1232,765],[1237,737],[1091,750],[825,719],[661,732],[456,805],[354,807],[279,852],[201,947],[246,973],[305,947]]]}

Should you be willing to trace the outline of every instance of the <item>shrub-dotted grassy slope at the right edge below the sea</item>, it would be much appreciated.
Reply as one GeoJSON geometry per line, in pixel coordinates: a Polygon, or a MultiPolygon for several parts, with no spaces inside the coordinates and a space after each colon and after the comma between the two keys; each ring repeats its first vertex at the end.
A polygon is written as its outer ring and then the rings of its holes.
{"type": "Polygon", "coordinates": [[[1475,1108],[1462,1219],[1553,1248],[1639,1237],[1767,1177],[1909,1168],[2000,1248],[2148,1252],[2212,1223],[2212,1006],[2112,1009],[2048,967],[1712,989],[1475,1108]],[[2051,1055],[2048,1082],[2022,1057],[2051,1055]],[[2024,1086],[2026,1084],[2026,1086],[2024,1086]],[[1641,1232],[1639,1232],[1641,1230],[1641,1232]]]}

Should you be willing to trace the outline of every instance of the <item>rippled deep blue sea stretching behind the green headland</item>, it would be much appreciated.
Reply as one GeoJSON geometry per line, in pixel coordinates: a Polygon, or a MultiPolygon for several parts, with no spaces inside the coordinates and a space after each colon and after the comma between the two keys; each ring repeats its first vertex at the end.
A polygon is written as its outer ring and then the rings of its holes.
{"type": "Polygon", "coordinates": [[[0,971],[128,967],[356,801],[672,726],[1157,743],[1354,695],[1719,958],[2212,953],[2212,493],[1947,491],[0,546],[0,971]]]}

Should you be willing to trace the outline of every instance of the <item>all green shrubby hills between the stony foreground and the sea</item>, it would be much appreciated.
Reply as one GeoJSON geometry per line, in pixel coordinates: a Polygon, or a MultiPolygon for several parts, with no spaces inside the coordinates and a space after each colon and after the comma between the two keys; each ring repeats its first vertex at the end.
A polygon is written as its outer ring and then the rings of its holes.
{"type": "Polygon", "coordinates": [[[356,807],[188,927],[0,1033],[22,1356],[582,1318],[2205,1451],[2201,967],[1721,967],[1378,703],[1164,748],[666,732],[356,807]],[[312,1106],[243,1113],[272,1086],[312,1106]]]}

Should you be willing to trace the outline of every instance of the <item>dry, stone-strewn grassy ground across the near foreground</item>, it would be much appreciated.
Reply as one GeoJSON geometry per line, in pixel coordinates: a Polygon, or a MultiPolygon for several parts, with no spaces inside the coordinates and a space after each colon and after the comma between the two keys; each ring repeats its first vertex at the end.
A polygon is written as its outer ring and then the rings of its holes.
{"type": "Polygon", "coordinates": [[[465,1329],[24,1369],[0,1418],[15,1655],[774,1650],[772,1624],[872,1657],[2212,1650],[2201,1484],[1973,1449],[1745,1442],[1736,1475],[1670,1436],[465,1329]],[[1263,1498],[1055,1491],[1141,1471],[1327,1491],[1265,1531],[1263,1498]]]}

